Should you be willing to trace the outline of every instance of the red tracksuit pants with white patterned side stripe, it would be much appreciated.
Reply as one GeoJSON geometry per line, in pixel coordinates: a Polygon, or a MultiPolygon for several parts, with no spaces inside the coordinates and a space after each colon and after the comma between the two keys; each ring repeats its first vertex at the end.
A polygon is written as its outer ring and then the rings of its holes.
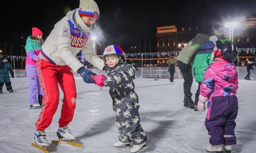
{"type": "Polygon", "coordinates": [[[68,65],[58,66],[38,58],[37,73],[41,89],[44,92],[41,113],[36,121],[36,130],[49,127],[58,105],[60,92],[62,100],[59,127],[64,127],[72,121],[76,108],[76,83],[71,68],[68,65]]]}

